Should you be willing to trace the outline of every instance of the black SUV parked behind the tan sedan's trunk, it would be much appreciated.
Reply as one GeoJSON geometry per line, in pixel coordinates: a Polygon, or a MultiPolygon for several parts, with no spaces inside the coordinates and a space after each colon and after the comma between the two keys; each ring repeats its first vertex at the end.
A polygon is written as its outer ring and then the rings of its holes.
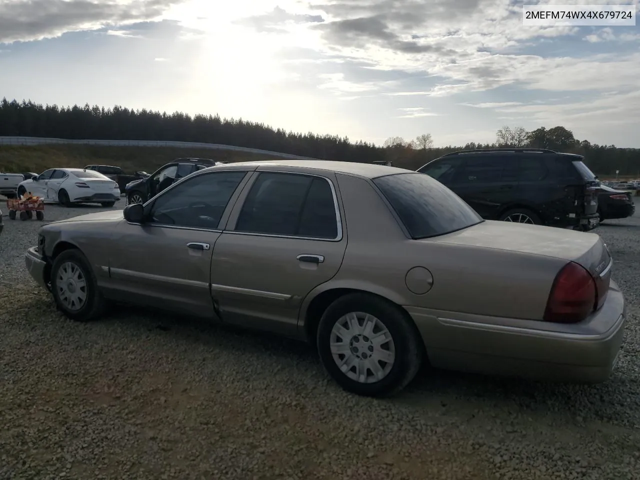
{"type": "Polygon", "coordinates": [[[457,193],[486,220],[591,230],[600,184],[584,157],[546,149],[461,150],[418,169],[457,193]]]}

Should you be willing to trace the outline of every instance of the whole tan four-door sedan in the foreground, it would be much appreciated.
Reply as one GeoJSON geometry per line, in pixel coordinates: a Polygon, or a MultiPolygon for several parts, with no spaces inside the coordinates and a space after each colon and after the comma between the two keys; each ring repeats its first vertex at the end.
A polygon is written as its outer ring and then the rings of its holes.
{"type": "Polygon", "coordinates": [[[423,362],[604,381],[626,318],[600,236],[486,221],[428,175],[374,164],[207,168],[41,227],[26,265],[71,319],[124,301],[307,340],[371,396],[423,362]]]}

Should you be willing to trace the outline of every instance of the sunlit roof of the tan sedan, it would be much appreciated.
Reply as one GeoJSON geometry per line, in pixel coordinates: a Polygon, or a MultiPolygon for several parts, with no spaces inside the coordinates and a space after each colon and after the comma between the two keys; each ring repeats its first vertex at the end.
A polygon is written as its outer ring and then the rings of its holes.
{"type": "MultiPolygon", "coordinates": [[[[336,173],[348,173],[349,175],[356,175],[358,177],[365,177],[368,179],[374,179],[376,177],[383,177],[385,175],[394,175],[395,173],[415,173],[413,170],[406,170],[405,168],[397,168],[395,166],[379,165],[373,163],[358,163],[358,162],[342,162],[335,160],[273,160],[273,161],[256,161],[256,162],[236,162],[227,163],[224,165],[212,166],[205,170],[219,170],[220,168],[230,166],[247,166],[253,167],[252,170],[259,168],[260,166],[282,166],[284,168],[304,168],[308,170],[325,170],[336,173]]],[[[202,170],[204,172],[205,170],[202,170]]]]}

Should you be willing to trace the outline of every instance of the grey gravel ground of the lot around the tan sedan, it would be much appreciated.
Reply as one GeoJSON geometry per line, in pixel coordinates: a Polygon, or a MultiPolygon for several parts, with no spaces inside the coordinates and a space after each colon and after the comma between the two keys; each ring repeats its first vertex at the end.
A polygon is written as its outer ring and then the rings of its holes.
{"type": "Polygon", "coordinates": [[[388,400],[289,340],[141,310],[68,321],[24,268],[40,223],[5,223],[0,479],[640,479],[638,217],[596,230],[630,303],[610,381],[425,372],[388,400]]]}

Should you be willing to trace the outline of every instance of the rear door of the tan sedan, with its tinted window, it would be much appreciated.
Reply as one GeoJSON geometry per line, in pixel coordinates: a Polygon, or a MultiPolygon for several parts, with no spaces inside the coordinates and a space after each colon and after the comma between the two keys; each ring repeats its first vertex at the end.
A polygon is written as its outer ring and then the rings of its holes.
{"type": "Polygon", "coordinates": [[[253,173],[213,252],[223,321],[296,335],[301,302],[344,257],[335,184],[333,173],[253,173]]]}

